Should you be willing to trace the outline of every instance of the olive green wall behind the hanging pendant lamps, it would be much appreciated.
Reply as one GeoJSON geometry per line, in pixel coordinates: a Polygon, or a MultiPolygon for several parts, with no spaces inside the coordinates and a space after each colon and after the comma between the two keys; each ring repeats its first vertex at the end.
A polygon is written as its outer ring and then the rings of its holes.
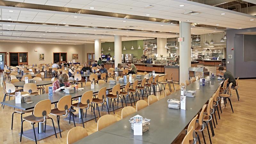
{"type": "MultiPolygon", "coordinates": [[[[105,42],[101,43],[101,47],[104,51],[101,51],[103,54],[110,54],[111,57],[115,55],[114,42],[105,42]],[[111,51],[108,51],[108,47],[110,47],[111,51]]],[[[122,54],[133,54],[134,58],[140,59],[140,56],[143,54],[143,40],[135,40],[135,41],[122,41],[122,54]],[[138,49],[140,45],[141,49],[138,49]],[[126,50],[123,50],[125,46],[126,50]],[[131,50],[131,48],[134,48],[134,50],[131,50]]]]}

